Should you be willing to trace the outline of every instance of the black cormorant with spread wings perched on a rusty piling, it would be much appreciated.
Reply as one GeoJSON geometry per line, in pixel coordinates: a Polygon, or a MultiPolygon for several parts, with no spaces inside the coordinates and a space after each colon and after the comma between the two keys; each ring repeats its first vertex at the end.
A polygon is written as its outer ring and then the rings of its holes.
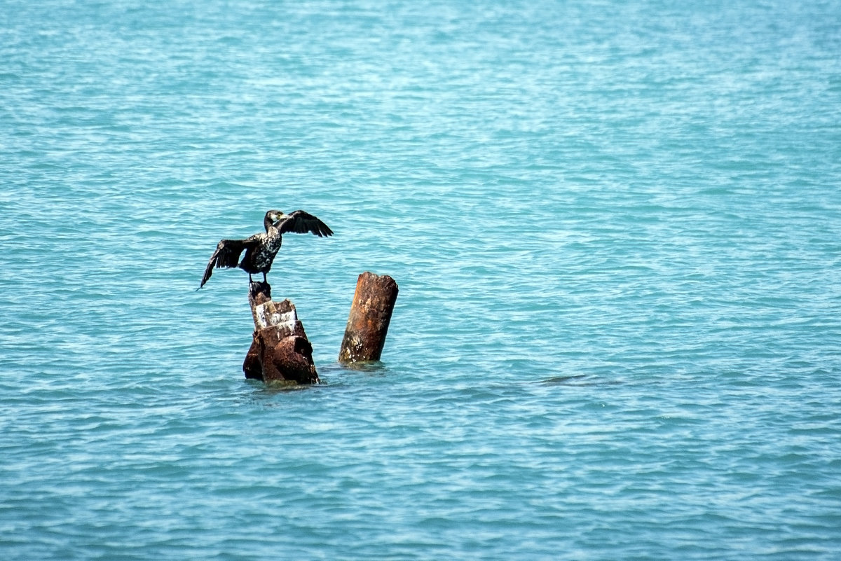
{"type": "Polygon", "coordinates": [[[281,244],[281,234],[294,233],[315,233],[319,238],[331,236],[333,231],[327,224],[315,218],[312,214],[304,211],[295,211],[291,214],[271,210],[266,212],[263,218],[263,226],[266,233],[255,233],[246,239],[223,239],[216,245],[216,251],[210,256],[207,268],[204,269],[204,277],[201,288],[213,274],[214,267],[239,267],[248,273],[248,281],[253,282],[251,275],[263,274],[263,282],[266,281],[266,273],[272,269],[274,256],[278,254],[281,244]],[[242,250],[246,250],[245,256],[240,261],[242,250]]]}

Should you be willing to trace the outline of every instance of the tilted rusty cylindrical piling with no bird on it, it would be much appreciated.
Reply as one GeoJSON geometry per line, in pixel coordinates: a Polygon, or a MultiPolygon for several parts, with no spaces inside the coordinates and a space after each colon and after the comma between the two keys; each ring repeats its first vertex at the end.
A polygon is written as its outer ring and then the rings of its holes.
{"type": "Polygon", "coordinates": [[[379,360],[395,301],[397,283],[389,275],[378,276],[368,271],[359,275],[339,362],[379,360]]]}

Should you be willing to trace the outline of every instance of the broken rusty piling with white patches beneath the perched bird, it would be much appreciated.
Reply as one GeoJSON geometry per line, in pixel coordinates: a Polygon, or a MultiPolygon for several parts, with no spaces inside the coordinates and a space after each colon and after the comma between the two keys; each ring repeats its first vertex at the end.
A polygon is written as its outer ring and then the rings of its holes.
{"type": "Polygon", "coordinates": [[[248,302],[254,318],[254,340],[242,364],[246,378],[318,384],[313,348],[294,304],[272,301],[272,287],[266,282],[251,283],[248,302]]]}

